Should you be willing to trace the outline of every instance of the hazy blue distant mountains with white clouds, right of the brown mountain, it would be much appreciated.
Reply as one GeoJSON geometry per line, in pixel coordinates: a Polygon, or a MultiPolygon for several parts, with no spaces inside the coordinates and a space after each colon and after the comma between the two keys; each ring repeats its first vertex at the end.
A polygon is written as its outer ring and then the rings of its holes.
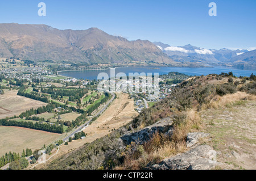
{"type": "Polygon", "coordinates": [[[256,50],[204,49],[190,44],[172,47],[161,42],[154,44],[176,62],[194,62],[199,65],[233,66],[234,68],[256,70],[256,50]]]}

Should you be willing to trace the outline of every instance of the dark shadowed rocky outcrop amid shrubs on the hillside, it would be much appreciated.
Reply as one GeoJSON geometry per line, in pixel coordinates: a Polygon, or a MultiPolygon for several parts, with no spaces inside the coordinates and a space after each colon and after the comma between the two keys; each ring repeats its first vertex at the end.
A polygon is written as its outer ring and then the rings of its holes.
{"type": "Polygon", "coordinates": [[[170,117],[161,119],[160,121],[152,124],[148,127],[145,127],[137,132],[131,132],[123,135],[121,139],[125,144],[129,145],[131,142],[139,141],[139,144],[143,144],[145,141],[148,141],[150,137],[156,133],[167,133],[172,127],[173,121],[170,117]]]}

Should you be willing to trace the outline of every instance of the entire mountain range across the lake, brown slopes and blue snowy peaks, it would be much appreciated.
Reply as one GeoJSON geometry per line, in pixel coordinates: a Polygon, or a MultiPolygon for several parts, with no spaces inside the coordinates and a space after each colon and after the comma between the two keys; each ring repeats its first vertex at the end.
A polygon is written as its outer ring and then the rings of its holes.
{"type": "Polygon", "coordinates": [[[168,66],[233,66],[256,69],[255,50],[172,47],[147,40],[129,41],[99,30],[58,30],[45,24],[0,24],[0,57],[55,62],[168,66]]]}

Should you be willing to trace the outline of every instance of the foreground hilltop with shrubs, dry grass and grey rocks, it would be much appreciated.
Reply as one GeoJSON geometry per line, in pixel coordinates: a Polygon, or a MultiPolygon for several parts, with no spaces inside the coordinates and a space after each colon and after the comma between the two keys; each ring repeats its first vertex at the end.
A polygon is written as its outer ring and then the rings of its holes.
{"type": "Polygon", "coordinates": [[[256,77],[193,77],[43,169],[255,169],[256,77]]]}

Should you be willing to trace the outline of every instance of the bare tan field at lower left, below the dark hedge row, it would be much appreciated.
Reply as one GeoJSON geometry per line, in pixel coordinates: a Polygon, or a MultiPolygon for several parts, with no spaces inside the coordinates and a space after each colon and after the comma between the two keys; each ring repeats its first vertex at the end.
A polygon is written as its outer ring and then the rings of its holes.
{"type": "Polygon", "coordinates": [[[49,133],[27,128],[0,127],[0,156],[9,151],[22,153],[26,148],[42,148],[44,144],[58,140],[61,134],[49,133]]]}

